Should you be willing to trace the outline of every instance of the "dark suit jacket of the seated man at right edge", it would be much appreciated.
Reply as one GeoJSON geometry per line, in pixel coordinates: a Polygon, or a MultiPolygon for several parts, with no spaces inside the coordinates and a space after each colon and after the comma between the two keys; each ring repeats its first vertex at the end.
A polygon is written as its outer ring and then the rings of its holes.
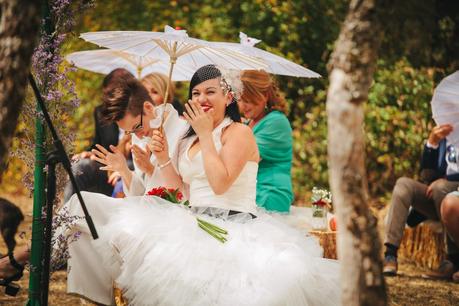
{"type": "MultiPolygon", "coordinates": [[[[459,153],[459,152],[458,152],[459,153]]],[[[459,156],[458,156],[459,158],[459,156]]],[[[424,145],[424,152],[421,160],[421,176],[425,170],[431,170],[432,177],[423,179],[430,183],[438,178],[446,177],[448,181],[459,181],[459,173],[446,175],[446,139],[443,139],[437,149],[432,149],[424,145]]]]}

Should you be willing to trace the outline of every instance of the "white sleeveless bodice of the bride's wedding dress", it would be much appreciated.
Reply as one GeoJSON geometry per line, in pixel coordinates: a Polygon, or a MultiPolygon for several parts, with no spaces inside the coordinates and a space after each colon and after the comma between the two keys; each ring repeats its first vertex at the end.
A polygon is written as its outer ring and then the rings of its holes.
{"type": "MultiPolygon", "coordinates": [[[[221,136],[223,129],[233,121],[225,118],[212,132],[217,152],[222,147],[221,136]]],[[[255,213],[256,185],[258,163],[246,163],[238,178],[222,195],[216,195],[209,185],[204,170],[201,151],[190,158],[188,151],[196,140],[196,136],[189,137],[184,144],[185,150],[179,156],[179,172],[185,183],[190,186],[190,203],[195,207],[219,207],[242,212],[255,213]]]]}

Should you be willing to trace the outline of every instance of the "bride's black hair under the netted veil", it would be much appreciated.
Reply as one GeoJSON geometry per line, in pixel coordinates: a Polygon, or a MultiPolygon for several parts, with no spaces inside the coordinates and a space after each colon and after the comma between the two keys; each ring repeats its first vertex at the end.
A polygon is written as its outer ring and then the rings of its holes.
{"type": "MultiPolygon", "coordinates": [[[[215,65],[206,65],[198,70],[193,74],[193,77],[191,78],[190,81],[190,90],[188,91],[188,99],[191,99],[192,91],[193,88],[195,88],[197,85],[201,84],[202,82],[205,82],[207,80],[212,80],[216,78],[222,78],[222,73],[220,70],[215,67],[215,65]]],[[[241,114],[239,113],[239,109],[237,107],[237,101],[236,98],[233,97],[233,101],[226,107],[225,110],[225,117],[231,118],[231,120],[235,122],[241,122],[241,114]]],[[[183,138],[191,137],[193,135],[196,135],[196,132],[193,130],[193,128],[190,126],[188,131],[186,132],[185,136],[183,138]]]]}

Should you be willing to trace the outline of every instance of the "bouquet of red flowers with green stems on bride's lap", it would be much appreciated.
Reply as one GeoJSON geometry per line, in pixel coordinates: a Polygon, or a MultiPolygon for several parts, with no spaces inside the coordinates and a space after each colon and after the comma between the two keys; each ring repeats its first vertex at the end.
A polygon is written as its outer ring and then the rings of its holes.
{"type": "MultiPolygon", "coordinates": [[[[190,202],[188,200],[182,202],[183,194],[178,189],[157,187],[148,191],[147,195],[157,196],[171,203],[182,204],[186,207],[189,207],[190,205],[190,202]]],[[[201,218],[196,218],[196,221],[198,222],[198,226],[201,229],[206,231],[209,235],[211,235],[218,241],[222,243],[225,243],[227,241],[226,235],[228,235],[228,231],[226,231],[225,229],[216,226],[215,224],[212,224],[210,222],[207,222],[201,218]]]]}

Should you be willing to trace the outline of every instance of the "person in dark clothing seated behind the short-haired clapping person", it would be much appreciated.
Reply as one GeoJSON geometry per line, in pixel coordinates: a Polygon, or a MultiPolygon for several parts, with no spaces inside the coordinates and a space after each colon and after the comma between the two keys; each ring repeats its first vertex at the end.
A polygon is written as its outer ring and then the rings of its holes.
{"type": "MultiPolygon", "coordinates": [[[[125,69],[115,69],[108,74],[103,83],[103,92],[110,91],[114,85],[114,80],[120,78],[133,78],[133,76],[125,69]]],[[[96,148],[96,144],[100,144],[104,148],[109,148],[110,145],[120,145],[129,139],[124,139],[124,132],[121,131],[115,123],[102,124],[101,120],[101,106],[94,110],[95,134],[91,146],[87,151],[76,154],[72,160],[76,162],[72,165],[72,172],[75,175],[76,182],[81,191],[99,192],[105,195],[111,195],[113,186],[117,182],[119,175],[117,173],[107,173],[100,170],[102,166],[100,163],[92,160],[91,150],[96,148]]],[[[128,154],[126,152],[125,154],[128,154]]],[[[131,160],[128,158],[128,160],[131,160]]],[[[129,162],[132,167],[132,161],[129,162]]],[[[70,197],[75,193],[72,183],[69,181],[64,190],[64,202],[67,202],[70,197]]]]}

